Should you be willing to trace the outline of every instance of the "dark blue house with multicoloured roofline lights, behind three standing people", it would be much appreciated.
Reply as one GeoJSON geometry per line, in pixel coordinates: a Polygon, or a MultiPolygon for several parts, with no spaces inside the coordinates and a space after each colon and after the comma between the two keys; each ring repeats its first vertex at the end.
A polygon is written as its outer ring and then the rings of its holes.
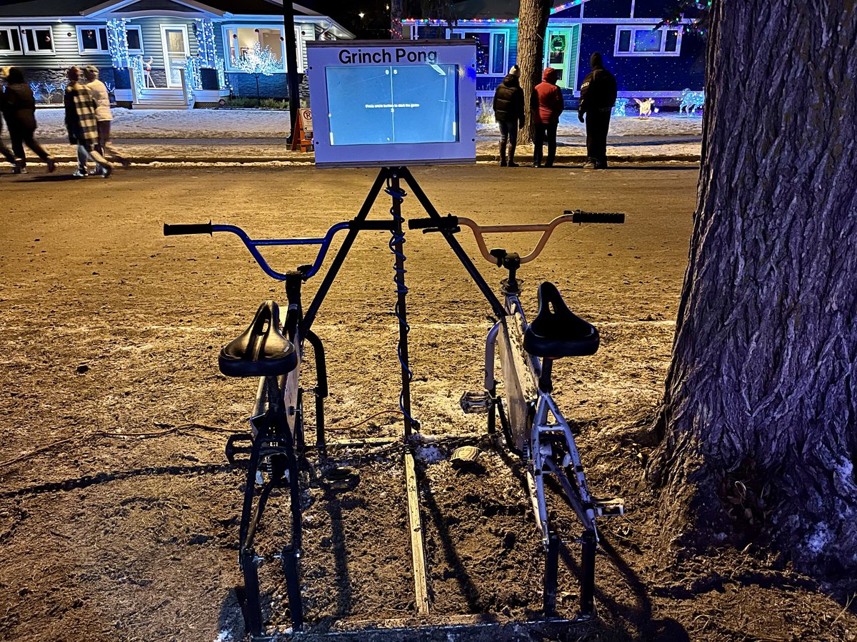
{"type": "MultiPolygon", "coordinates": [[[[676,0],[572,0],[554,2],[544,42],[544,67],[559,71],[566,104],[577,104],[590,72],[593,51],[616,76],[620,98],[655,98],[678,104],[682,92],[704,87],[704,40],[681,24],[654,29],[676,0]]],[[[468,38],[477,45],[477,96],[494,95],[518,59],[518,1],[466,0],[453,3],[457,21],[409,18],[405,38],[468,38]]]]}

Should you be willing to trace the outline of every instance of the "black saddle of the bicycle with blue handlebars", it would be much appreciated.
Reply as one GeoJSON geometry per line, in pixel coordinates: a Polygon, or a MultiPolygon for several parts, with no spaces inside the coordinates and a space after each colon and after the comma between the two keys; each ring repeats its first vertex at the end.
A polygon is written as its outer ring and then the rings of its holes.
{"type": "Polygon", "coordinates": [[[276,377],[295,369],[297,353],[279,331],[273,300],[262,303],[250,327],[220,350],[218,365],[227,377],[276,377]]]}

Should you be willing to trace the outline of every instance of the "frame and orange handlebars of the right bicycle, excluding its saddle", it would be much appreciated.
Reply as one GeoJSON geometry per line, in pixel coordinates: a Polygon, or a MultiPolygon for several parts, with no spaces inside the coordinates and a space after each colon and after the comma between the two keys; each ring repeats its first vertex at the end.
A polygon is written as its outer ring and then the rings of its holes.
{"type": "MultiPolygon", "coordinates": [[[[423,228],[425,232],[438,231],[445,236],[469,227],[476,239],[482,257],[489,263],[509,270],[509,277],[502,282],[504,297],[502,314],[488,332],[485,342],[485,398],[483,406],[478,395],[465,393],[462,405],[486,407],[488,431],[493,432],[495,417],[500,417],[502,430],[509,447],[521,456],[526,464],[526,480],[530,494],[536,526],[546,553],[544,574],[545,615],[554,611],[556,600],[557,567],[560,540],[548,524],[548,505],[545,497],[544,477],[554,475],[584,532],[578,541],[581,544],[581,591],[580,616],[589,618],[594,613],[595,554],[598,542],[596,511],[602,507],[617,508],[621,514],[621,500],[595,500],[590,495],[584,476],[574,436],[566,419],[550,393],[552,363],[543,363],[538,357],[524,349],[524,333],[529,325],[524,309],[518,299],[519,284],[516,272],[541,253],[548,238],[561,223],[623,223],[624,214],[596,214],[582,211],[566,211],[561,217],[543,225],[493,225],[481,226],[464,217],[431,217],[411,221],[411,228],[423,228]],[[523,258],[505,250],[488,250],[482,237],[484,234],[500,232],[542,232],[536,247],[523,258]],[[497,381],[494,378],[494,355],[500,354],[500,370],[505,389],[506,404],[497,396],[497,381]],[[553,417],[553,422],[549,417],[553,417]]],[[[490,300],[489,300],[490,301],[490,300]]],[[[545,358],[547,359],[547,357],[545,358]]],[[[616,513],[614,513],[616,514],[616,513]]]]}

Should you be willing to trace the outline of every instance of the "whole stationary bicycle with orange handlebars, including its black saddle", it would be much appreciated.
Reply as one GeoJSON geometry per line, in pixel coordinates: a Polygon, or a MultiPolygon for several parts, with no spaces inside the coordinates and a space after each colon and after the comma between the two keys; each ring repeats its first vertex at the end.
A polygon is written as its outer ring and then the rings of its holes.
{"type": "MultiPolygon", "coordinates": [[[[508,270],[500,294],[503,298],[499,320],[488,332],[485,342],[484,391],[465,392],[461,399],[464,412],[487,412],[488,432],[496,431],[496,418],[506,437],[506,445],[524,462],[530,502],[536,526],[546,553],[543,610],[554,613],[560,538],[548,524],[544,478],[553,475],[560,483],[574,513],[584,527],[581,544],[581,619],[594,614],[595,556],[598,544],[596,517],[624,514],[624,501],[618,497],[592,496],[584,476],[571,428],[551,395],[552,369],[556,359],[595,354],[600,338],[592,324],[579,318],[566,306],[551,282],[538,288],[538,312],[528,323],[518,298],[521,293],[518,268],[542,252],[548,238],[561,223],[624,223],[624,214],[566,211],[547,224],[482,226],[470,218],[429,217],[411,219],[410,229],[423,233],[440,232],[447,241],[462,226],[469,228],[482,257],[494,266],[508,270]],[[505,249],[491,249],[483,235],[508,232],[542,232],[536,247],[524,257],[505,249]],[[497,395],[494,356],[500,354],[500,372],[504,394],[497,395]],[[549,417],[553,417],[553,421],[549,417]]],[[[489,299],[489,302],[491,300],[489,299]]]]}

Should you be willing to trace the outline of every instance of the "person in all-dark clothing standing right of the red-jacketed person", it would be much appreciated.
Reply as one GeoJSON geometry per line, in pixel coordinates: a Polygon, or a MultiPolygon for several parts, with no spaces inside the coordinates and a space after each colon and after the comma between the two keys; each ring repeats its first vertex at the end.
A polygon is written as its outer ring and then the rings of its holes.
{"type": "Polygon", "coordinates": [[[616,79],[604,68],[601,54],[590,56],[592,71],[580,86],[578,120],[586,116],[586,163],[584,167],[607,169],[607,132],[610,113],[616,104],[616,79]]]}

